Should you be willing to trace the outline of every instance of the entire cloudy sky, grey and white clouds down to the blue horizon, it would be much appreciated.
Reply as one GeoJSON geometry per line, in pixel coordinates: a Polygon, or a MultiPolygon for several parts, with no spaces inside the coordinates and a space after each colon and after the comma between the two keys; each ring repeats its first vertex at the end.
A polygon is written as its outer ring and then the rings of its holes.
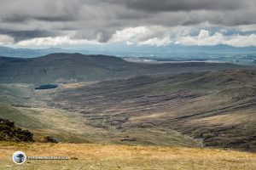
{"type": "Polygon", "coordinates": [[[1,0],[0,45],[256,47],[255,0],[1,0]]]}

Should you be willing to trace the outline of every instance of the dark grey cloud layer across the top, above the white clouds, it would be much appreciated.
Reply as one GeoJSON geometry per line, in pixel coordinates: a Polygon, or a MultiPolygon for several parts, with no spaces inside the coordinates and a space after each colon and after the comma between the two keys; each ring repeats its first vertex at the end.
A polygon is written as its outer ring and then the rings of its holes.
{"type": "Polygon", "coordinates": [[[108,42],[137,26],[256,24],[254,0],[2,0],[0,34],[15,42],[68,35],[108,42]]]}

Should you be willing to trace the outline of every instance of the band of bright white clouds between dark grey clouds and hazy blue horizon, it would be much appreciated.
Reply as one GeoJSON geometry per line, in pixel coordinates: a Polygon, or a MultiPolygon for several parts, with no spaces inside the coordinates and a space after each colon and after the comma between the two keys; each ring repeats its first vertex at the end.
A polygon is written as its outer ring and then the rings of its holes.
{"type": "MultiPolygon", "coordinates": [[[[137,26],[127,27],[109,35],[104,43],[125,42],[127,45],[165,46],[170,43],[187,46],[214,46],[219,44],[234,47],[256,47],[256,25],[222,27],[203,23],[195,26],[137,26]],[[248,32],[251,31],[251,32],[248,32]]],[[[36,37],[15,42],[14,37],[0,34],[0,45],[23,47],[102,44],[101,33],[92,37],[78,37],[76,31],[62,32],[60,37],[36,37]]],[[[85,32],[86,33],[86,32],[85,32]]]]}

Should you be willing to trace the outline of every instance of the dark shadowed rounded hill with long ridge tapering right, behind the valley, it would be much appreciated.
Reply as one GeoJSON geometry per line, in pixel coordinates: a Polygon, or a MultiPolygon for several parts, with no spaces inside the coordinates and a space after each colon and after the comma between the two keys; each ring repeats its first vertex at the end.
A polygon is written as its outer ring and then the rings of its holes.
{"type": "Polygon", "coordinates": [[[241,66],[220,63],[131,63],[108,55],[48,54],[32,59],[0,58],[0,82],[52,83],[102,81],[145,74],[215,71],[241,66]]]}

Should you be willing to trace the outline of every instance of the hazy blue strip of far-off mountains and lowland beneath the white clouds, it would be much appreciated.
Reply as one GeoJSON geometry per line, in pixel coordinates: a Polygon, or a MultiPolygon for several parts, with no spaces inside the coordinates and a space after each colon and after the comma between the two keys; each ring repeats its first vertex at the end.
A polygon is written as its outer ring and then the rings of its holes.
{"type": "MultiPolygon", "coordinates": [[[[224,58],[224,54],[253,54],[256,59],[256,48],[236,48],[227,45],[216,46],[183,46],[183,45],[166,45],[163,47],[152,46],[127,46],[125,44],[105,44],[101,46],[93,46],[86,48],[7,48],[0,46],[0,56],[17,57],[17,58],[33,58],[53,53],[79,53],[79,54],[105,54],[120,57],[171,57],[171,58],[195,58],[195,54],[201,54],[200,58],[212,59],[211,54],[220,55],[220,59],[224,58]]],[[[226,56],[230,57],[230,56],[226,56]]]]}

